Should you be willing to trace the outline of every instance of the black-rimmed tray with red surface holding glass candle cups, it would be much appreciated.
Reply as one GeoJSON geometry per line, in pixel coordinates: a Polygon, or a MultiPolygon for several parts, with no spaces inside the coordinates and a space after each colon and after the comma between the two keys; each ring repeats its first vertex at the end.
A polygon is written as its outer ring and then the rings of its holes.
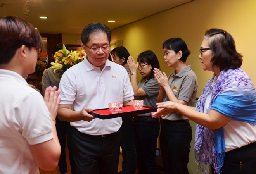
{"type": "Polygon", "coordinates": [[[143,106],[141,110],[135,110],[133,105],[123,106],[123,110],[118,111],[116,114],[111,114],[109,108],[104,109],[95,109],[92,112],[88,112],[93,117],[97,117],[99,119],[112,119],[116,117],[123,117],[123,116],[132,116],[138,114],[145,114],[150,112],[156,112],[157,108],[152,108],[149,106],[143,106]]]}

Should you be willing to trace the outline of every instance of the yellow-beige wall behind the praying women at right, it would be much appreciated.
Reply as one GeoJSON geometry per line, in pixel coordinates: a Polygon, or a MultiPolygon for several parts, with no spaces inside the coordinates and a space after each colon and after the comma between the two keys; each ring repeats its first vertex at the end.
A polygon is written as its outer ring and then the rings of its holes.
{"type": "MultiPolygon", "coordinates": [[[[220,28],[228,31],[236,42],[237,51],[242,53],[242,68],[256,84],[256,1],[255,0],[194,0],[187,4],[166,10],[154,16],[133,22],[112,30],[112,41],[123,40],[130,54],[137,60],[138,54],[145,50],[156,53],[161,70],[167,74],[173,71],[163,60],[162,44],[172,37],[182,38],[191,51],[187,64],[197,74],[200,96],[212,72],[203,71],[198,59],[199,48],[206,29],[220,28]]],[[[141,78],[139,76],[138,78],[141,78]]],[[[191,142],[189,173],[197,174],[194,160],[194,129],[191,142]]]]}

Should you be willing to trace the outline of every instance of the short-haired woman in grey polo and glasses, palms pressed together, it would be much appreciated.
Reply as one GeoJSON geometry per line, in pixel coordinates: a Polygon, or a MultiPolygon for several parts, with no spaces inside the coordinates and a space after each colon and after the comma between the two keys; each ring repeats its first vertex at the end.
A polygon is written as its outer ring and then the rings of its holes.
{"type": "MultiPolygon", "coordinates": [[[[154,76],[160,86],[158,102],[172,101],[194,106],[197,93],[197,76],[190,65],[186,65],[190,55],[187,44],[181,38],[170,38],[163,43],[164,62],[174,68],[168,77],[165,72],[154,69],[154,76]]],[[[173,112],[161,118],[160,147],[164,174],[189,174],[190,142],[192,128],[189,119],[173,112]]]]}

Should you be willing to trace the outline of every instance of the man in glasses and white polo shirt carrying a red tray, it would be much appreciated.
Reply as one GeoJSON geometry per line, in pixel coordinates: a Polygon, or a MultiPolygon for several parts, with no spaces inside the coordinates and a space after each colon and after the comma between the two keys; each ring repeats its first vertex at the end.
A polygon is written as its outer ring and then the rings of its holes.
{"type": "Polygon", "coordinates": [[[73,126],[73,155],[77,174],[114,174],[118,171],[121,117],[102,120],[88,114],[123,101],[132,105],[133,89],[126,70],[108,60],[110,29],[95,22],[81,34],[86,59],[68,69],[59,85],[59,119],[73,126]]]}

